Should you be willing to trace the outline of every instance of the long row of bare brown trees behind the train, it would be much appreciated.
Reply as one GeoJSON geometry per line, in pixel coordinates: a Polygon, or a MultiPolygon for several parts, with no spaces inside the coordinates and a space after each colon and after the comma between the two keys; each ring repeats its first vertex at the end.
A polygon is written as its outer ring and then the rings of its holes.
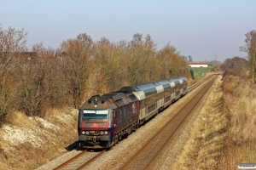
{"type": "Polygon", "coordinates": [[[131,84],[183,75],[189,66],[171,44],[158,49],[146,35],[130,42],[94,41],[86,33],[60,47],[43,42],[26,47],[27,32],[0,25],[0,119],[13,111],[45,116],[50,108],[79,108],[91,95],[116,91],[131,84]],[[29,53],[27,53],[30,51],[29,53]]]}

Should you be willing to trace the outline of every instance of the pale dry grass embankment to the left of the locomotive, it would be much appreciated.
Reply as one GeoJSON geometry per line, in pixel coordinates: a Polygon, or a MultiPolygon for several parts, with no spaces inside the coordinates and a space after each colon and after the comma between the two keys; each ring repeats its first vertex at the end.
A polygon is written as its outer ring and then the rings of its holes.
{"type": "Polygon", "coordinates": [[[3,139],[2,134],[6,133],[3,132],[4,127],[0,130],[1,170],[39,167],[60,156],[63,151],[67,151],[64,148],[78,139],[76,111],[64,109],[49,110],[49,112],[45,120],[39,117],[27,118],[20,112],[9,115],[9,127],[33,133],[27,136],[26,142],[18,140],[16,143],[11,143],[3,139]]]}

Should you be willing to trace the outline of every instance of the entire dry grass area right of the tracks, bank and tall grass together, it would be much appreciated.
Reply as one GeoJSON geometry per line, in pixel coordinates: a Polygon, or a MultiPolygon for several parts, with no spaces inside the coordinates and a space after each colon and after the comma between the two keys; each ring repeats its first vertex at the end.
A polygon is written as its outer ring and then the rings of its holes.
{"type": "Polygon", "coordinates": [[[224,94],[221,82],[210,94],[173,169],[232,170],[256,162],[256,84],[234,76],[223,84],[224,94]]]}

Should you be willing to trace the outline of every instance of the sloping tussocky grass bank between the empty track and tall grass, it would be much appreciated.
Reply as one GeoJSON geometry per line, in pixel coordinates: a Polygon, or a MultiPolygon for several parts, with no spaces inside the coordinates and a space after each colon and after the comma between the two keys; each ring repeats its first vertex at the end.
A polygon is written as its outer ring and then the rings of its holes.
{"type": "Polygon", "coordinates": [[[222,99],[222,81],[219,77],[172,169],[221,169],[219,159],[226,136],[222,99]]]}

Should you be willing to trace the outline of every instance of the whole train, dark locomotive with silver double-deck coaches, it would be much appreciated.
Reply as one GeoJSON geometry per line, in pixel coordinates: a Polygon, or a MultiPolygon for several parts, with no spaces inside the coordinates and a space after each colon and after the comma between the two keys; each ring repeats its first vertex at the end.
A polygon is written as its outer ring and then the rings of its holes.
{"type": "Polygon", "coordinates": [[[187,92],[188,80],[180,76],[91,96],[79,108],[79,145],[112,148],[187,92]]]}

